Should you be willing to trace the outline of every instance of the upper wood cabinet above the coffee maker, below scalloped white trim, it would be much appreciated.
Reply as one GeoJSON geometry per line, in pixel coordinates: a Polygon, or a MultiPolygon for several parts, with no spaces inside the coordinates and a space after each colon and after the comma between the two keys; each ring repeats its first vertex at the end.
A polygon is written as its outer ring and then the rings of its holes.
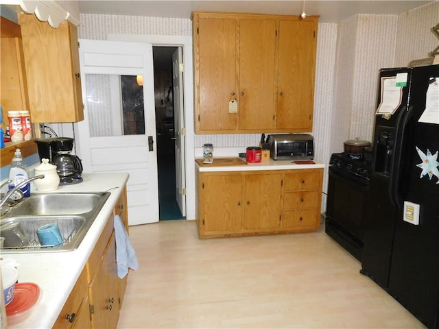
{"type": "Polygon", "coordinates": [[[19,14],[32,122],[84,119],[78,32],[69,21],[56,29],[34,14],[19,14]]]}

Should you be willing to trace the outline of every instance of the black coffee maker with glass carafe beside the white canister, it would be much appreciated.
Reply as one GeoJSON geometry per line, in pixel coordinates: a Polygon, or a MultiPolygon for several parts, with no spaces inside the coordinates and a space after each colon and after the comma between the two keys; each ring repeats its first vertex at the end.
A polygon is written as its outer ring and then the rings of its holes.
{"type": "Polygon", "coordinates": [[[38,138],[35,140],[40,160],[49,159],[51,164],[56,165],[56,171],[60,176],[60,185],[82,182],[81,159],[71,154],[73,141],[74,139],[69,137],[38,138]]]}

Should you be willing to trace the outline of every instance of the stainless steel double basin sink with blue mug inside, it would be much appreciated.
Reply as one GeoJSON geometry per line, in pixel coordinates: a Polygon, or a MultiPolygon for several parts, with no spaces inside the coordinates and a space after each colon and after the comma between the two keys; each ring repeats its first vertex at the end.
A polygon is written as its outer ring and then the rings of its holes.
{"type": "Polygon", "coordinates": [[[1,253],[68,252],[77,249],[109,196],[110,192],[33,193],[9,208],[0,219],[0,236],[6,236],[5,228],[12,225],[8,223],[18,222],[29,242],[4,246],[1,253]],[[54,247],[40,245],[36,231],[49,223],[58,225],[62,244],[54,247]]]}

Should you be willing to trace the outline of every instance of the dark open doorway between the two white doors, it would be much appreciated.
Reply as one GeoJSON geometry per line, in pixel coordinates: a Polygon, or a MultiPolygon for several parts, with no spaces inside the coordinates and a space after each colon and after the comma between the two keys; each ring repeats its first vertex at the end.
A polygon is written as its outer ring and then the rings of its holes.
{"type": "Polygon", "coordinates": [[[176,202],[176,158],[172,53],[177,47],[152,47],[158,169],[159,220],[185,219],[176,202]]]}

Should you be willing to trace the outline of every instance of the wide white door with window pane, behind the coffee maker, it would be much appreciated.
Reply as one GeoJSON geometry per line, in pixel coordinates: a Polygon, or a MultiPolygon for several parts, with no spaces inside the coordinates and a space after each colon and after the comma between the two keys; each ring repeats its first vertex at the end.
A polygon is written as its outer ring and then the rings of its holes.
{"type": "Polygon", "coordinates": [[[152,45],[80,40],[85,173],[126,172],[130,225],[158,221],[152,45]],[[143,85],[137,77],[143,77],[143,85]]]}

